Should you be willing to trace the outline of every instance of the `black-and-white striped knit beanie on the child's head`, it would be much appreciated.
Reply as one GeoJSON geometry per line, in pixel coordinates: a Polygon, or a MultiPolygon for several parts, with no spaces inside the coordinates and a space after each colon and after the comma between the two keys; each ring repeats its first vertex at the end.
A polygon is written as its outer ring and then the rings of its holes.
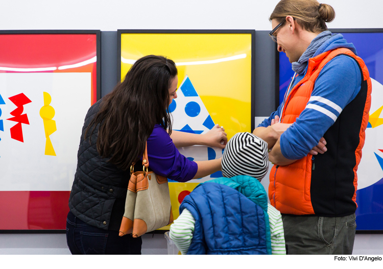
{"type": "Polygon", "coordinates": [[[269,169],[267,143],[250,132],[238,132],[226,145],[222,156],[225,177],[248,175],[264,178],[269,169]]]}

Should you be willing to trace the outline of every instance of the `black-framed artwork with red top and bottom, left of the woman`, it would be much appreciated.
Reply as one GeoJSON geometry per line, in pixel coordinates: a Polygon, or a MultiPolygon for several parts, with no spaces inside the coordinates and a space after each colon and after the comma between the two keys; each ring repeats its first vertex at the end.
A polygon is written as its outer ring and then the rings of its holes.
{"type": "Polygon", "coordinates": [[[0,31],[0,230],[65,230],[100,31],[0,31]]]}

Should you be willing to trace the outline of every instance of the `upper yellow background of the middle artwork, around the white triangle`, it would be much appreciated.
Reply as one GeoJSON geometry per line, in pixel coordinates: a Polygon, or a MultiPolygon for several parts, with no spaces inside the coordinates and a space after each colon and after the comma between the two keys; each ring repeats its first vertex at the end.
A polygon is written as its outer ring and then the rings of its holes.
{"type": "Polygon", "coordinates": [[[228,138],[251,131],[251,34],[122,34],[121,78],[139,58],[162,55],[187,75],[228,138]]]}

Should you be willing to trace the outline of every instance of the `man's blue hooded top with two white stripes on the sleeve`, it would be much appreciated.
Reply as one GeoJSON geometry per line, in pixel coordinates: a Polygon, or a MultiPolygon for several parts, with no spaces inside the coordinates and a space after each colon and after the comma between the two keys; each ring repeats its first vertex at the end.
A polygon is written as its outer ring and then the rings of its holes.
{"type": "MultiPolygon", "coordinates": [[[[334,35],[319,47],[314,57],[339,47],[349,48],[356,55],[356,49],[351,43],[347,43],[342,35],[334,35]]],[[[292,87],[297,85],[306,71],[307,68],[295,78],[292,87]]],[[[361,84],[362,74],[354,59],[342,55],[328,62],[315,82],[305,109],[280,137],[282,155],[288,159],[300,159],[306,156],[318,145],[319,140],[337,120],[344,107],[356,97],[361,84]]],[[[280,116],[283,103],[258,127],[267,127],[275,116],[280,116]]]]}

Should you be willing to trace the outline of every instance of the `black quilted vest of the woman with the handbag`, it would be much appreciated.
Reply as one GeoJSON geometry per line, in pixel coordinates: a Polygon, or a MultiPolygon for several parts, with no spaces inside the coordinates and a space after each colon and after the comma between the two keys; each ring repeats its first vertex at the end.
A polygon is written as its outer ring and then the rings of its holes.
{"type": "Polygon", "coordinates": [[[96,148],[98,126],[92,133],[91,143],[90,131],[84,139],[85,130],[99,111],[101,101],[102,99],[92,105],[85,117],[69,209],[83,222],[107,230],[110,228],[111,213],[116,199],[125,202],[130,171],[122,171],[108,163],[107,158],[100,157],[96,148]]]}

